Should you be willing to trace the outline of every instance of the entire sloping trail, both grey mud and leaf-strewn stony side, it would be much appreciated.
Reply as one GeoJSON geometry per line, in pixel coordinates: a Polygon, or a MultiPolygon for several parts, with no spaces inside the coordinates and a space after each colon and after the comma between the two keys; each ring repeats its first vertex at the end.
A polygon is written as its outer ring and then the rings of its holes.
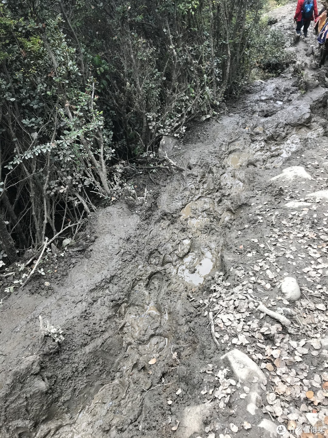
{"type": "Polygon", "coordinates": [[[328,436],[328,67],[295,7],[270,14],[290,67],[164,138],[185,170],[3,300],[1,438],[328,436]]]}

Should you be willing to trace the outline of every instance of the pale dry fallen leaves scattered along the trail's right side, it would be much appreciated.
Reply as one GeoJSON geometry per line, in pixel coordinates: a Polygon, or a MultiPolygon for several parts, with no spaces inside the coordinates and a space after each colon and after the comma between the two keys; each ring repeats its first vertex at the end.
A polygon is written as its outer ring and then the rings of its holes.
{"type": "MultiPolygon", "coordinates": [[[[311,167],[318,162],[308,164],[311,167]]],[[[322,175],[317,178],[327,180],[322,175]]],[[[297,201],[306,201],[307,206],[288,211],[283,206],[272,209],[266,202],[258,205],[255,214],[249,215],[253,216],[253,225],[245,226],[255,228],[254,238],[248,239],[247,248],[239,246],[240,252],[246,252],[234,269],[239,280],[237,286],[225,281],[220,273],[209,297],[199,303],[204,316],[209,318],[209,325],[214,324],[214,336],[222,351],[241,350],[265,373],[267,385],[262,385],[260,409],[265,417],[286,427],[283,437],[327,438],[327,205],[315,196],[309,199],[302,191],[289,190],[289,186],[279,190],[286,203],[303,195],[297,201]],[[270,233],[256,237],[259,235],[256,227],[264,219],[270,233]],[[286,259],[292,274],[283,268],[286,259]],[[295,276],[302,280],[301,288],[295,276]],[[293,282],[295,297],[286,296],[293,282]],[[259,311],[258,306],[262,310],[263,305],[275,312],[276,317],[259,311]],[[279,315],[288,324],[282,324],[279,315]]],[[[209,364],[201,372],[215,376],[212,381],[204,379],[201,393],[206,406],[218,405],[222,410],[230,410],[227,405],[231,397],[237,403],[238,398],[244,399],[250,391],[234,380],[229,368],[216,369],[209,364]]],[[[250,429],[251,418],[244,420],[241,424],[231,423],[230,433],[235,435],[238,428],[250,429]]],[[[212,424],[206,432],[215,429],[212,424]]],[[[220,438],[229,436],[219,434],[220,438]]]]}

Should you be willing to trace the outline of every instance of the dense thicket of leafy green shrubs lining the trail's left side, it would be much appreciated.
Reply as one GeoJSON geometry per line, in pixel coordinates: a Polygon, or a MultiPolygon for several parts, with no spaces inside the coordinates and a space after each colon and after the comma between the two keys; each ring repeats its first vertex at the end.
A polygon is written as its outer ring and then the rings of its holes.
{"type": "Polygon", "coordinates": [[[278,71],[282,42],[259,37],[261,8],[262,0],[2,3],[3,235],[9,222],[19,248],[35,246],[100,198],[115,200],[119,159],[183,134],[240,92],[255,64],[278,71]]]}

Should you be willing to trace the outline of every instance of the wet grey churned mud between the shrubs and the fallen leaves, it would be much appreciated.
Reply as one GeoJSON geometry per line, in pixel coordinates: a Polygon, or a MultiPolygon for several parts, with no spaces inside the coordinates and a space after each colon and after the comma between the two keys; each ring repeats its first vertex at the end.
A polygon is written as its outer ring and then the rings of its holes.
{"type": "MultiPolygon", "coordinates": [[[[290,39],[294,8],[272,14],[290,39]]],[[[31,282],[3,300],[1,438],[205,438],[234,436],[230,423],[260,422],[262,410],[241,416],[241,399],[225,409],[204,403],[204,375],[217,380],[208,364],[220,369],[230,350],[213,342],[204,300],[218,278],[238,285],[239,267],[251,269],[247,253],[258,251],[251,239],[264,242],[275,225],[268,212],[279,208],[279,221],[288,220],[283,204],[327,190],[327,67],[318,71],[315,55],[306,56],[311,44],[312,35],[290,45],[299,64],[255,81],[236,108],[168,148],[186,171],[159,177],[146,206],[122,198],[94,217],[97,238],[63,281],[47,277],[47,293],[31,282]],[[294,68],[305,72],[306,93],[294,68]],[[289,166],[314,179],[270,181],[289,166]],[[42,336],[39,315],[63,329],[62,343],[42,336]]],[[[307,283],[288,258],[278,264],[307,283]]],[[[255,426],[237,434],[269,436],[255,426]]]]}

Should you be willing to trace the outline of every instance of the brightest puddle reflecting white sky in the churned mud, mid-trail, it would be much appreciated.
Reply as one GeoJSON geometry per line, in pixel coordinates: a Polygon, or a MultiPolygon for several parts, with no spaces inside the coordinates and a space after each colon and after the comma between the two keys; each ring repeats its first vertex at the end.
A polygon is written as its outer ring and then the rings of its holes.
{"type": "Polygon", "coordinates": [[[213,266],[213,255],[209,251],[202,258],[192,253],[184,259],[184,265],[179,266],[178,276],[198,286],[203,283],[205,276],[212,271],[213,266]]]}

